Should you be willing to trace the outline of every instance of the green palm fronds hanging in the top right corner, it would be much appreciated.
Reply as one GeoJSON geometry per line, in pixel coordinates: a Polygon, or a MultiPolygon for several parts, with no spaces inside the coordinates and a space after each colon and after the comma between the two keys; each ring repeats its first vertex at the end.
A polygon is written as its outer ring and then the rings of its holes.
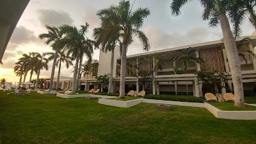
{"type": "Polygon", "coordinates": [[[236,36],[241,34],[241,23],[244,18],[248,19],[256,29],[256,15],[253,8],[256,6],[255,0],[236,0],[230,5],[230,18],[233,24],[233,33],[236,36]]]}

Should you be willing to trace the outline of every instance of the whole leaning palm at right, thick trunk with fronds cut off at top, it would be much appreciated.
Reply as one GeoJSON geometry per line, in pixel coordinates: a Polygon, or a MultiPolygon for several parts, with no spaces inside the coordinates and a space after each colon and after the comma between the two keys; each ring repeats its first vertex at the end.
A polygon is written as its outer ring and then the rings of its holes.
{"type": "MultiPolygon", "coordinates": [[[[243,81],[241,65],[236,47],[236,40],[230,29],[226,13],[230,12],[228,6],[233,0],[200,0],[204,8],[203,19],[210,20],[209,26],[220,24],[223,34],[224,45],[227,52],[228,64],[235,92],[235,106],[244,106],[243,81]]],[[[173,0],[171,4],[172,15],[179,15],[180,8],[187,4],[188,0],[173,0]]]]}

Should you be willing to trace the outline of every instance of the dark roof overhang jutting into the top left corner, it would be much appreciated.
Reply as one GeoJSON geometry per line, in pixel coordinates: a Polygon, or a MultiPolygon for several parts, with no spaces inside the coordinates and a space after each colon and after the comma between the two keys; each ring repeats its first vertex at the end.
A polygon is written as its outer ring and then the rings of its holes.
{"type": "Polygon", "coordinates": [[[29,0],[0,1],[0,61],[29,0]]]}

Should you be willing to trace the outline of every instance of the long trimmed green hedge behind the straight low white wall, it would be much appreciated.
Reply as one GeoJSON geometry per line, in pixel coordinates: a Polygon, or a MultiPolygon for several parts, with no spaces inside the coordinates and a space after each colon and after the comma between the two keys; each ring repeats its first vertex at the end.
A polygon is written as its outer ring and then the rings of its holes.
{"type": "Polygon", "coordinates": [[[204,103],[204,99],[200,97],[193,97],[188,95],[145,95],[144,99],[156,100],[172,100],[180,102],[200,102],[204,103]]]}

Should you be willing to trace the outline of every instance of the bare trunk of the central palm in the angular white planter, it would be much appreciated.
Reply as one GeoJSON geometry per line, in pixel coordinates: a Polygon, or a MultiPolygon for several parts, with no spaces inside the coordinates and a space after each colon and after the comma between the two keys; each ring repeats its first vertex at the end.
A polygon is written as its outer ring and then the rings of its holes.
{"type": "Polygon", "coordinates": [[[127,44],[123,44],[122,55],[121,55],[121,68],[120,68],[120,89],[119,89],[119,98],[125,98],[125,73],[126,73],[126,49],[127,44]]]}

